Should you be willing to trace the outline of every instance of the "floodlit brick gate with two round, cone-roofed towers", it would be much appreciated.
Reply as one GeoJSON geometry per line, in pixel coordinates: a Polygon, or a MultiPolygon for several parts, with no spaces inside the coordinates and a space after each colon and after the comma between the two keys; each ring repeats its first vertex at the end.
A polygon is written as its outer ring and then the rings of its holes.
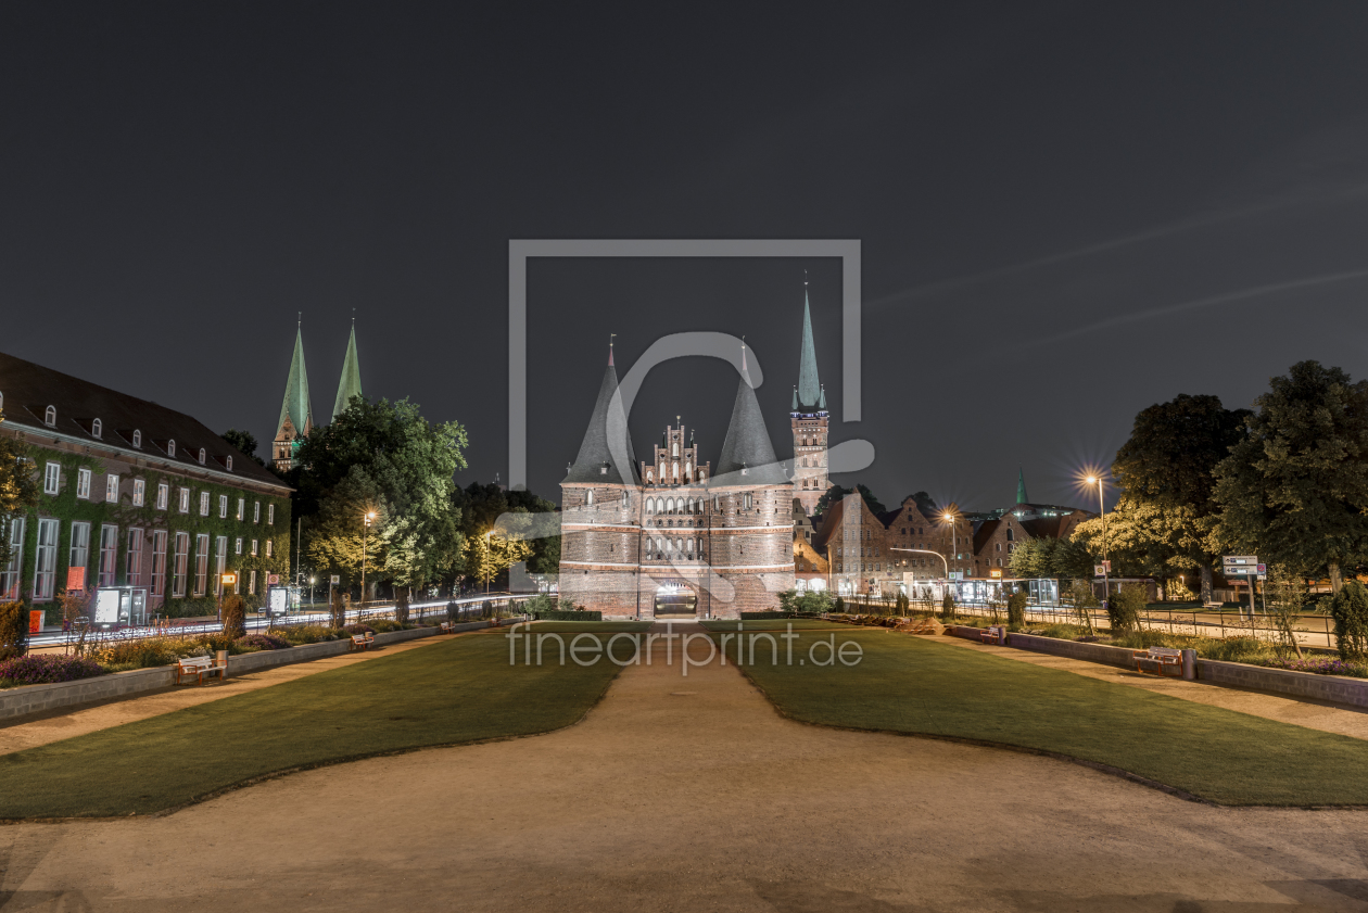
{"type": "Polygon", "coordinates": [[[741,379],[717,471],[684,426],[637,461],[611,353],[579,456],[561,482],[564,598],[605,615],[737,617],[793,586],[793,486],[741,379]],[[677,472],[677,474],[676,474],[677,472]]]}

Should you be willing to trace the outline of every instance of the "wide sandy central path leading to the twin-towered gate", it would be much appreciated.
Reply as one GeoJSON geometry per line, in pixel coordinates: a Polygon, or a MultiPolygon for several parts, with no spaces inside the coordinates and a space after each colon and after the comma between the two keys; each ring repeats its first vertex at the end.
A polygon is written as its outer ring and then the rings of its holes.
{"type": "Polygon", "coordinates": [[[1368,813],[1218,809],[1049,758],[802,725],[735,667],[685,679],[662,653],[551,735],[166,819],[0,828],[5,909],[1365,909],[1368,813]]]}

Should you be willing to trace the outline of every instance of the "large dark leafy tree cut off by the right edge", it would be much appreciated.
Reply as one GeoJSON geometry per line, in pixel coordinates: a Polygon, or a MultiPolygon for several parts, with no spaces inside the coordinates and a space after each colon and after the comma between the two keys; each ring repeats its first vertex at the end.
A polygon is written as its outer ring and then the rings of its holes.
{"type": "Polygon", "coordinates": [[[1368,382],[1294,364],[1246,419],[1248,435],[1216,467],[1219,539],[1304,574],[1341,569],[1368,552],[1368,382]]]}

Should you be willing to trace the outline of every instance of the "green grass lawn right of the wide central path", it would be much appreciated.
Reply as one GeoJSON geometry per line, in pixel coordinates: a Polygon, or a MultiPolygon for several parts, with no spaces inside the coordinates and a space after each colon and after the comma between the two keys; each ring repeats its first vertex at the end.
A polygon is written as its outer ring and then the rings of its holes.
{"type": "Polygon", "coordinates": [[[798,665],[818,638],[792,667],[744,667],[795,720],[1053,751],[1223,805],[1368,805],[1360,739],[882,631],[836,634],[863,647],[855,667],[798,665]]]}

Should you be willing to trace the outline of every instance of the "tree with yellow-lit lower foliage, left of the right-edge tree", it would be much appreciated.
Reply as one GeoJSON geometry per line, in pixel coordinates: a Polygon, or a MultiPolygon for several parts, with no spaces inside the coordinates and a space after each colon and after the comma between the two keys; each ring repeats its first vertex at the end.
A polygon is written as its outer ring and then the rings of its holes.
{"type": "Polygon", "coordinates": [[[1186,393],[1142,409],[1112,463],[1122,497],[1107,517],[1108,539],[1115,539],[1107,554],[1115,550],[1138,572],[1160,578],[1200,568],[1209,601],[1219,550],[1212,535],[1220,513],[1212,500],[1216,465],[1244,437],[1248,416],[1219,397],[1186,393]]]}

